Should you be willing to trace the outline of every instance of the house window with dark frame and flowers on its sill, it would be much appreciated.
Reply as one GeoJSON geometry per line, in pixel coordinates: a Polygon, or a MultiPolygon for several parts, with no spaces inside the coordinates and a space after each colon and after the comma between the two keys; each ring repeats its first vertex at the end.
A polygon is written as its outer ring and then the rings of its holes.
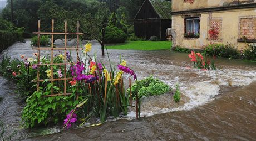
{"type": "Polygon", "coordinates": [[[196,18],[185,18],[185,33],[184,37],[188,38],[199,38],[200,19],[196,18]]]}

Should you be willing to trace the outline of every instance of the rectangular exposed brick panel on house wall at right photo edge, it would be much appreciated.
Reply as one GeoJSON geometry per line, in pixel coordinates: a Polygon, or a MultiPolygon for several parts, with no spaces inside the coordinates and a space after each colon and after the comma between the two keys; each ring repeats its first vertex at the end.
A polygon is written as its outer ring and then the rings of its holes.
{"type": "Polygon", "coordinates": [[[256,17],[245,16],[239,18],[239,38],[256,39],[256,17]]]}

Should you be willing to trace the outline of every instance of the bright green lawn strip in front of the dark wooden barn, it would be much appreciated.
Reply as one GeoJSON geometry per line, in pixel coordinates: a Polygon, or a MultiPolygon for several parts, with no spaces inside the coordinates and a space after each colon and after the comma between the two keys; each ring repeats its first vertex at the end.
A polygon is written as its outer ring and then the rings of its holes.
{"type": "Polygon", "coordinates": [[[126,41],[124,44],[107,45],[107,49],[163,50],[171,49],[171,41],[126,41]]]}

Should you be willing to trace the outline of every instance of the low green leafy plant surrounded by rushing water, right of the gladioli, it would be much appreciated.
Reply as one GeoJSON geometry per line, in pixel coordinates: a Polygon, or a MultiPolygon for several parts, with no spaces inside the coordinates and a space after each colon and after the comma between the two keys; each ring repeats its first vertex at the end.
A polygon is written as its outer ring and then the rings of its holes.
{"type": "MultiPolygon", "coordinates": [[[[170,92],[171,88],[160,81],[159,79],[154,79],[153,76],[147,77],[144,80],[140,80],[131,86],[132,97],[136,97],[136,90],[138,89],[139,98],[145,96],[155,96],[170,92]]],[[[126,90],[130,93],[130,88],[126,90]]]]}

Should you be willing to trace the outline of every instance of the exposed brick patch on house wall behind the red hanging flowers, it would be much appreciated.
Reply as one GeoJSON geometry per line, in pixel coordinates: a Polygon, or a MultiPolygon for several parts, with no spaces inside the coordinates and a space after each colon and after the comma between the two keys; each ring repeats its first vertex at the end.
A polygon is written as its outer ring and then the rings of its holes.
{"type": "Polygon", "coordinates": [[[209,41],[222,41],[222,18],[213,18],[211,13],[209,13],[208,18],[207,39],[209,41]],[[209,30],[214,30],[215,35],[213,36],[209,30]]]}

